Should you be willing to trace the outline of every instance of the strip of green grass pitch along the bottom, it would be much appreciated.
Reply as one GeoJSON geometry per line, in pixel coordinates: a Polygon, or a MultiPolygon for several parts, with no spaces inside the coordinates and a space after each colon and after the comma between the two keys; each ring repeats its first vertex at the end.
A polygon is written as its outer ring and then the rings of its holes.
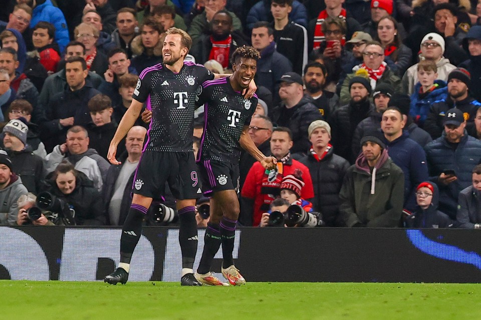
{"type": "Polygon", "coordinates": [[[0,319],[481,319],[479,284],[0,281],[0,319]]]}

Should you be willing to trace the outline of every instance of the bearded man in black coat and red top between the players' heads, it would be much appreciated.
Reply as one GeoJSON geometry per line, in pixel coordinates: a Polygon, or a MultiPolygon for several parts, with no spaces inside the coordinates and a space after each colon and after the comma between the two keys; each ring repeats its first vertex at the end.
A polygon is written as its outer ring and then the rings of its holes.
{"type": "Polygon", "coordinates": [[[210,34],[201,34],[193,43],[190,54],[204,64],[215,60],[224,69],[231,69],[230,57],[238,47],[247,45],[242,33],[232,30],[232,16],[227,10],[218,11],[209,23],[210,34]]]}

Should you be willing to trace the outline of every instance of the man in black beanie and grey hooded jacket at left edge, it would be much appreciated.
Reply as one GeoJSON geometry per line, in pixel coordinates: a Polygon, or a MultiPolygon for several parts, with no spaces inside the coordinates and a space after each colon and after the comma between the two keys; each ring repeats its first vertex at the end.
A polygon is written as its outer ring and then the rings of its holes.
{"type": "Polygon", "coordinates": [[[0,225],[17,224],[17,200],[27,193],[22,179],[12,172],[12,161],[7,152],[0,150],[0,225]]]}

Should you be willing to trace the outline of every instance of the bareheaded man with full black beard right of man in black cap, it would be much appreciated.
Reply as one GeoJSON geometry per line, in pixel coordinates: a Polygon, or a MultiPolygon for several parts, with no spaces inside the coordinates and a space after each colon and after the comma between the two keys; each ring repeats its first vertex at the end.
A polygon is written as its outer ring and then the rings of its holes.
{"type": "Polygon", "coordinates": [[[310,62],[304,68],[304,93],[314,99],[314,105],[324,119],[329,119],[332,111],[339,105],[339,98],[334,93],[324,90],[327,69],[319,62],[310,62]]]}

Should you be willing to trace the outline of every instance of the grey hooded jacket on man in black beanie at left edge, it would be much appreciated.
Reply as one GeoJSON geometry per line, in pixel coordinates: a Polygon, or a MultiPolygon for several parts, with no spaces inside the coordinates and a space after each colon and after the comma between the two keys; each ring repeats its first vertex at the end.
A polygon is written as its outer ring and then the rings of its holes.
{"type": "Polygon", "coordinates": [[[17,225],[19,206],[17,200],[29,193],[22,184],[22,179],[15,173],[10,176],[10,183],[0,190],[0,225],[17,225]]]}

